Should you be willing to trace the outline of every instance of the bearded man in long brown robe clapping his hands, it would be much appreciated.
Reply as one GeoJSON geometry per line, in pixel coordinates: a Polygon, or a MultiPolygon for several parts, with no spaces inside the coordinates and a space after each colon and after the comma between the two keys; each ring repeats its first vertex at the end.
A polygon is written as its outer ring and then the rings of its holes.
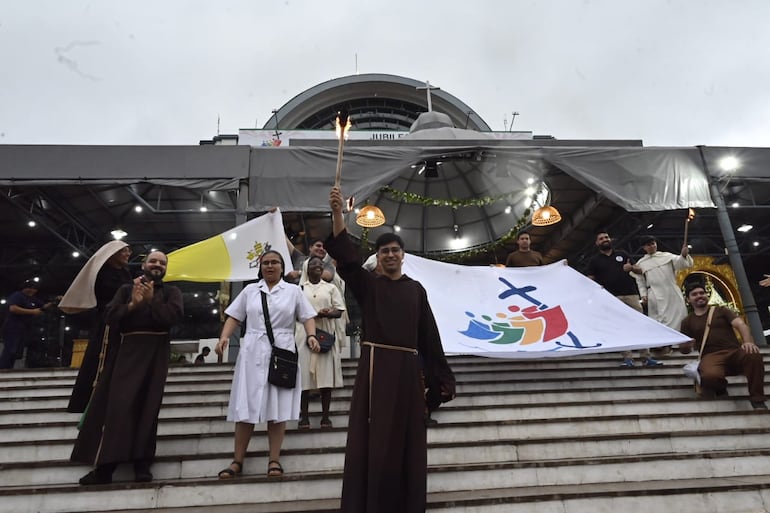
{"type": "Polygon", "coordinates": [[[83,419],[72,461],[95,465],[82,485],[108,484],[119,463],[134,464],[137,482],[152,480],[158,413],[168,374],[170,328],[182,319],[182,293],[164,285],[168,259],[147,255],[144,276],[107,305],[109,352],[83,419]]]}

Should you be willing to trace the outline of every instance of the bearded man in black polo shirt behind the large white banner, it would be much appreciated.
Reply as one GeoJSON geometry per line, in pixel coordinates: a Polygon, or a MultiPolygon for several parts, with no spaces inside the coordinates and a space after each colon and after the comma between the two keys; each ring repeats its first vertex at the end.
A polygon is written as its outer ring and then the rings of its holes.
{"type": "MultiPolygon", "coordinates": [[[[607,232],[597,233],[595,243],[599,248],[599,254],[588,263],[588,277],[637,312],[643,313],[636,281],[628,274],[633,264],[631,257],[625,251],[612,248],[612,239],[607,232]]],[[[663,365],[650,357],[649,349],[641,349],[639,356],[642,358],[642,365],[646,367],[663,365]]],[[[634,366],[631,351],[623,352],[623,361],[620,365],[621,367],[634,366]]]]}

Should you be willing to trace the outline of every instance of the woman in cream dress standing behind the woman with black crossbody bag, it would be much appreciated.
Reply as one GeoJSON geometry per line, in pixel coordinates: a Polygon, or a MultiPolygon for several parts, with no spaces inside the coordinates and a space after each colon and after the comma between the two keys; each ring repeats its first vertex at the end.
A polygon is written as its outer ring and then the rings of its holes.
{"type": "MultiPolygon", "coordinates": [[[[316,314],[316,327],[334,334],[335,320],[342,316],[345,303],[339,289],[321,279],[323,261],[319,257],[310,257],[307,262],[307,275],[300,285],[302,292],[316,314]]],[[[302,371],[302,399],[300,403],[299,429],[309,429],[308,396],[310,390],[321,392],[321,428],[330,429],[332,421],[329,418],[332,388],[342,387],[342,363],[340,361],[339,340],[335,340],[332,348],[325,353],[317,353],[306,342],[305,330],[297,326],[296,342],[299,351],[300,369],[302,371]]],[[[312,339],[311,339],[312,340],[312,339]]]]}

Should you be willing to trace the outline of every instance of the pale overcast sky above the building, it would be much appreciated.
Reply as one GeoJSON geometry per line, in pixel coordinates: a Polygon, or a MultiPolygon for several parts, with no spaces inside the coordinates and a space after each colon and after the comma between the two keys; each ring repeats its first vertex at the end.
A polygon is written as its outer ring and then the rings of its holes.
{"type": "Polygon", "coordinates": [[[387,73],[493,130],[770,146],[767,0],[9,0],[0,144],[197,145],[387,73]]]}

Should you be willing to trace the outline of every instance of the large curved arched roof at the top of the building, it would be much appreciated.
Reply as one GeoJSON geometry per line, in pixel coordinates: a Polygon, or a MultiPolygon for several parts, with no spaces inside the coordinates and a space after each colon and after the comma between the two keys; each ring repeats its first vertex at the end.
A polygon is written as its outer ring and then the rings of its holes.
{"type": "MultiPolygon", "coordinates": [[[[278,109],[265,129],[334,128],[341,109],[347,110],[358,130],[409,130],[428,110],[424,82],[397,75],[369,73],[323,82],[303,91],[278,109]]],[[[433,110],[447,114],[458,128],[491,131],[476,112],[441,89],[431,91],[433,110]]]]}

